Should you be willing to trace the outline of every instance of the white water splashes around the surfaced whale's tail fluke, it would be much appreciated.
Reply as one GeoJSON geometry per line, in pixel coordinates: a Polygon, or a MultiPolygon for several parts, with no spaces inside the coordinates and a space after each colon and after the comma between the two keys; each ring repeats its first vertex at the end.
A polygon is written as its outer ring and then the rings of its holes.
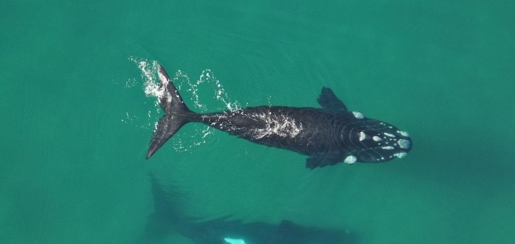
{"type": "MultiPolygon", "coordinates": [[[[149,61],[147,59],[130,57],[132,61],[141,71],[141,78],[143,84],[143,92],[148,98],[152,98],[153,109],[146,112],[144,116],[129,115],[126,113],[126,118],[122,121],[126,124],[136,125],[140,128],[155,129],[157,121],[161,118],[163,112],[159,105],[159,100],[164,95],[164,88],[159,84],[159,63],[157,61],[149,61]]],[[[183,99],[190,97],[192,102],[186,102],[191,110],[205,113],[220,110],[234,111],[241,108],[237,101],[232,101],[224,86],[221,84],[210,69],[205,69],[200,74],[199,78],[192,82],[190,77],[183,71],[178,70],[171,81],[175,84],[177,90],[181,93],[183,99]],[[212,95],[205,95],[210,93],[212,95]],[[201,94],[201,95],[199,95],[201,94]]],[[[125,88],[138,87],[136,79],[129,79],[125,88]]],[[[147,103],[146,101],[145,103],[147,103]]],[[[132,114],[132,113],[131,113],[132,114]]],[[[209,135],[213,134],[214,129],[198,123],[194,123],[194,133],[177,133],[174,135],[173,140],[170,140],[174,149],[178,152],[191,152],[194,147],[204,144],[209,135]]]]}

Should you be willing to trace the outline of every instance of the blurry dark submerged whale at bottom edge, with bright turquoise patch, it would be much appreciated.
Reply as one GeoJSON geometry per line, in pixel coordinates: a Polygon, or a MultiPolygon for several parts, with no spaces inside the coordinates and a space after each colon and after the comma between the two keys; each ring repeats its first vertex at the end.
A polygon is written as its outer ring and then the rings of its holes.
{"type": "Polygon", "coordinates": [[[175,233],[196,244],[353,244],[362,238],[344,226],[327,228],[288,219],[268,223],[242,221],[234,215],[212,220],[192,217],[185,211],[187,194],[177,184],[163,184],[150,173],[150,186],[153,212],[136,243],[170,243],[168,238],[175,233]]]}

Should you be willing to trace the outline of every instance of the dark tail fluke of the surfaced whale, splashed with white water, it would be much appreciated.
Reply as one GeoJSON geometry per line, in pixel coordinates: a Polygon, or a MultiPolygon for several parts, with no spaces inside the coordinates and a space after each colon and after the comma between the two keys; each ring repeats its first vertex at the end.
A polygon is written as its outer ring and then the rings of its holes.
{"type": "Polygon", "coordinates": [[[195,114],[186,107],[181,95],[161,65],[159,65],[158,75],[160,90],[163,91],[163,94],[159,96],[159,104],[165,114],[156,124],[150,139],[147,159],[163,146],[184,124],[190,122],[188,119],[190,115],[195,114]]]}

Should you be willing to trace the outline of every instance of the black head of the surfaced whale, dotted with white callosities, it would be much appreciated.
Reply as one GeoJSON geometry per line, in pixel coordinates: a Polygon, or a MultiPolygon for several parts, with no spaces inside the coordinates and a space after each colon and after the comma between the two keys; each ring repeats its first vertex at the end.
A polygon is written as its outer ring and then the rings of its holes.
{"type": "Polygon", "coordinates": [[[361,118],[354,125],[346,133],[350,143],[346,163],[379,163],[403,158],[413,145],[407,132],[382,121],[361,118]]]}

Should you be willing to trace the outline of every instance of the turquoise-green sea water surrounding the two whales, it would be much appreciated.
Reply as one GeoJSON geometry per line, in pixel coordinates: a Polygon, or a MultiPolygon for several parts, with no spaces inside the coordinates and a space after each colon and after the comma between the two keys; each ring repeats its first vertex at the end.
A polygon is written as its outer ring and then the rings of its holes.
{"type": "MultiPolygon", "coordinates": [[[[182,193],[181,214],[205,221],[288,219],[358,243],[513,243],[514,7],[7,1],[0,240],[132,243],[153,213],[152,172],[182,193]],[[408,131],[414,149],[308,170],[305,156],[192,124],[145,160],[160,115],[138,64],[153,61],[180,70],[184,88],[207,73],[220,82],[228,100],[206,82],[204,107],[184,90],[194,110],[318,107],[328,86],[408,131]]],[[[163,243],[192,241],[170,230],[163,243]]]]}

